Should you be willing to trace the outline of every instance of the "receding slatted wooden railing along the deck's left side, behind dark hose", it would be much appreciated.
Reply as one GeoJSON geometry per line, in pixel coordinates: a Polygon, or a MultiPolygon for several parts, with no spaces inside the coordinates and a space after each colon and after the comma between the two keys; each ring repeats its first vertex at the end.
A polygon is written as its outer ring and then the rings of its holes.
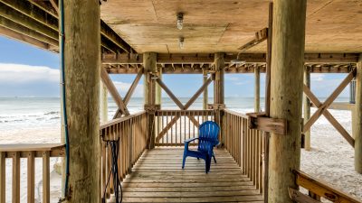
{"type": "MultiPolygon", "coordinates": [[[[111,151],[110,146],[104,141],[119,140],[119,178],[123,180],[138,161],[139,156],[146,149],[148,143],[147,134],[148,113],[142,111],[135,115],[129,115],[100,125],[101,142],[101,182],[102,196],[110,174],[111,151]]],[[[107,187],[106,198],[113,193],[113,182],[107,187]]],[[[102,197],[104,198],[104,197],[102,197]]]]}

